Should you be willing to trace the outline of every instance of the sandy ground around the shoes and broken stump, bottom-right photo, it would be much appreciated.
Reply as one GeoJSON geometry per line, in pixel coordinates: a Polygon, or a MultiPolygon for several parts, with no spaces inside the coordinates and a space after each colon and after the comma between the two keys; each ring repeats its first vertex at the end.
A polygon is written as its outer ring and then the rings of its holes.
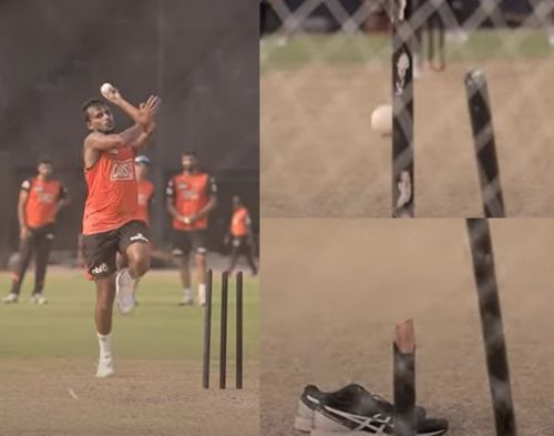
{"type": "MultiPolygon", "coordinates": [[[[554,221],[492,223],[520,434],[554,427],[554,221]]],[[[463,220],[263,222],[261,433],[294,435],[302,387],[392,392],[393,324],[413,317],[418,403],[453,436],[492,436],[463,220]]]]}

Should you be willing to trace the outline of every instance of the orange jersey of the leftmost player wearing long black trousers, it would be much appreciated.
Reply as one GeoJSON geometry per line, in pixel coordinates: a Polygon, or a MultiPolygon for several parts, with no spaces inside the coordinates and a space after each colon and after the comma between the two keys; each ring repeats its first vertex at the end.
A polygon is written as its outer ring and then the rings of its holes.
{"type": "Polygon", "coordinates": [[[25,203],[25,224],[31,229],[42,227],[55,221],[58,202],[66,195],[58,180],[43,181],[39,178],[25,180],[21,190],[29,196],[25,203]]]}

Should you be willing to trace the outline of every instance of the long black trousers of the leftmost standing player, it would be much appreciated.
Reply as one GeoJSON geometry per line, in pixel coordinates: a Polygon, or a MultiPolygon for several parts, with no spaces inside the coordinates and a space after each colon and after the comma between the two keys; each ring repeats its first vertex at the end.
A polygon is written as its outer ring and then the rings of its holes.
{"type": "Polygon", "coordinates": [[[31,235],[19,242],[19,262],[13,272],[11,293],[19,295],[27,267],[34,254],[34,288],[33,294],[41,294],[44,288],[48,258],[54,241],[54,225],[31,229],[31,235]]]}

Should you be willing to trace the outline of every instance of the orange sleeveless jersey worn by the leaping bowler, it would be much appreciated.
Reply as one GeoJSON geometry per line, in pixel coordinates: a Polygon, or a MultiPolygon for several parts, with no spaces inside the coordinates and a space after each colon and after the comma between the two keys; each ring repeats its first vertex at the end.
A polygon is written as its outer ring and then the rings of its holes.
{"type": "Polygon", "coordinates": [[[109,232],[138,220],[134,156],[130,146],[104,151],[94,166],[84,171],[89,195],[83,234],[109,232]]]}

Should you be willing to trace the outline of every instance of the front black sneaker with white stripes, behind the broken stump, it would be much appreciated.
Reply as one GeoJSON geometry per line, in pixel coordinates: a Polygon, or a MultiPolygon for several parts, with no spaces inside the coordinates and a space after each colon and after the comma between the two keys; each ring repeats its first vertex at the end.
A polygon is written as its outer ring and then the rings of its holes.
{"type": "MultiPolygon", "coordinates": [[[[449,424],[445,419],[418,419],[416,436],[439,436],[447,433],[449,424]]],[[[319,406],[314,415],[311,436],[349,436],[393,435],[393,414],[370,413],[356,415],[329,406],[319,406]]]]}

